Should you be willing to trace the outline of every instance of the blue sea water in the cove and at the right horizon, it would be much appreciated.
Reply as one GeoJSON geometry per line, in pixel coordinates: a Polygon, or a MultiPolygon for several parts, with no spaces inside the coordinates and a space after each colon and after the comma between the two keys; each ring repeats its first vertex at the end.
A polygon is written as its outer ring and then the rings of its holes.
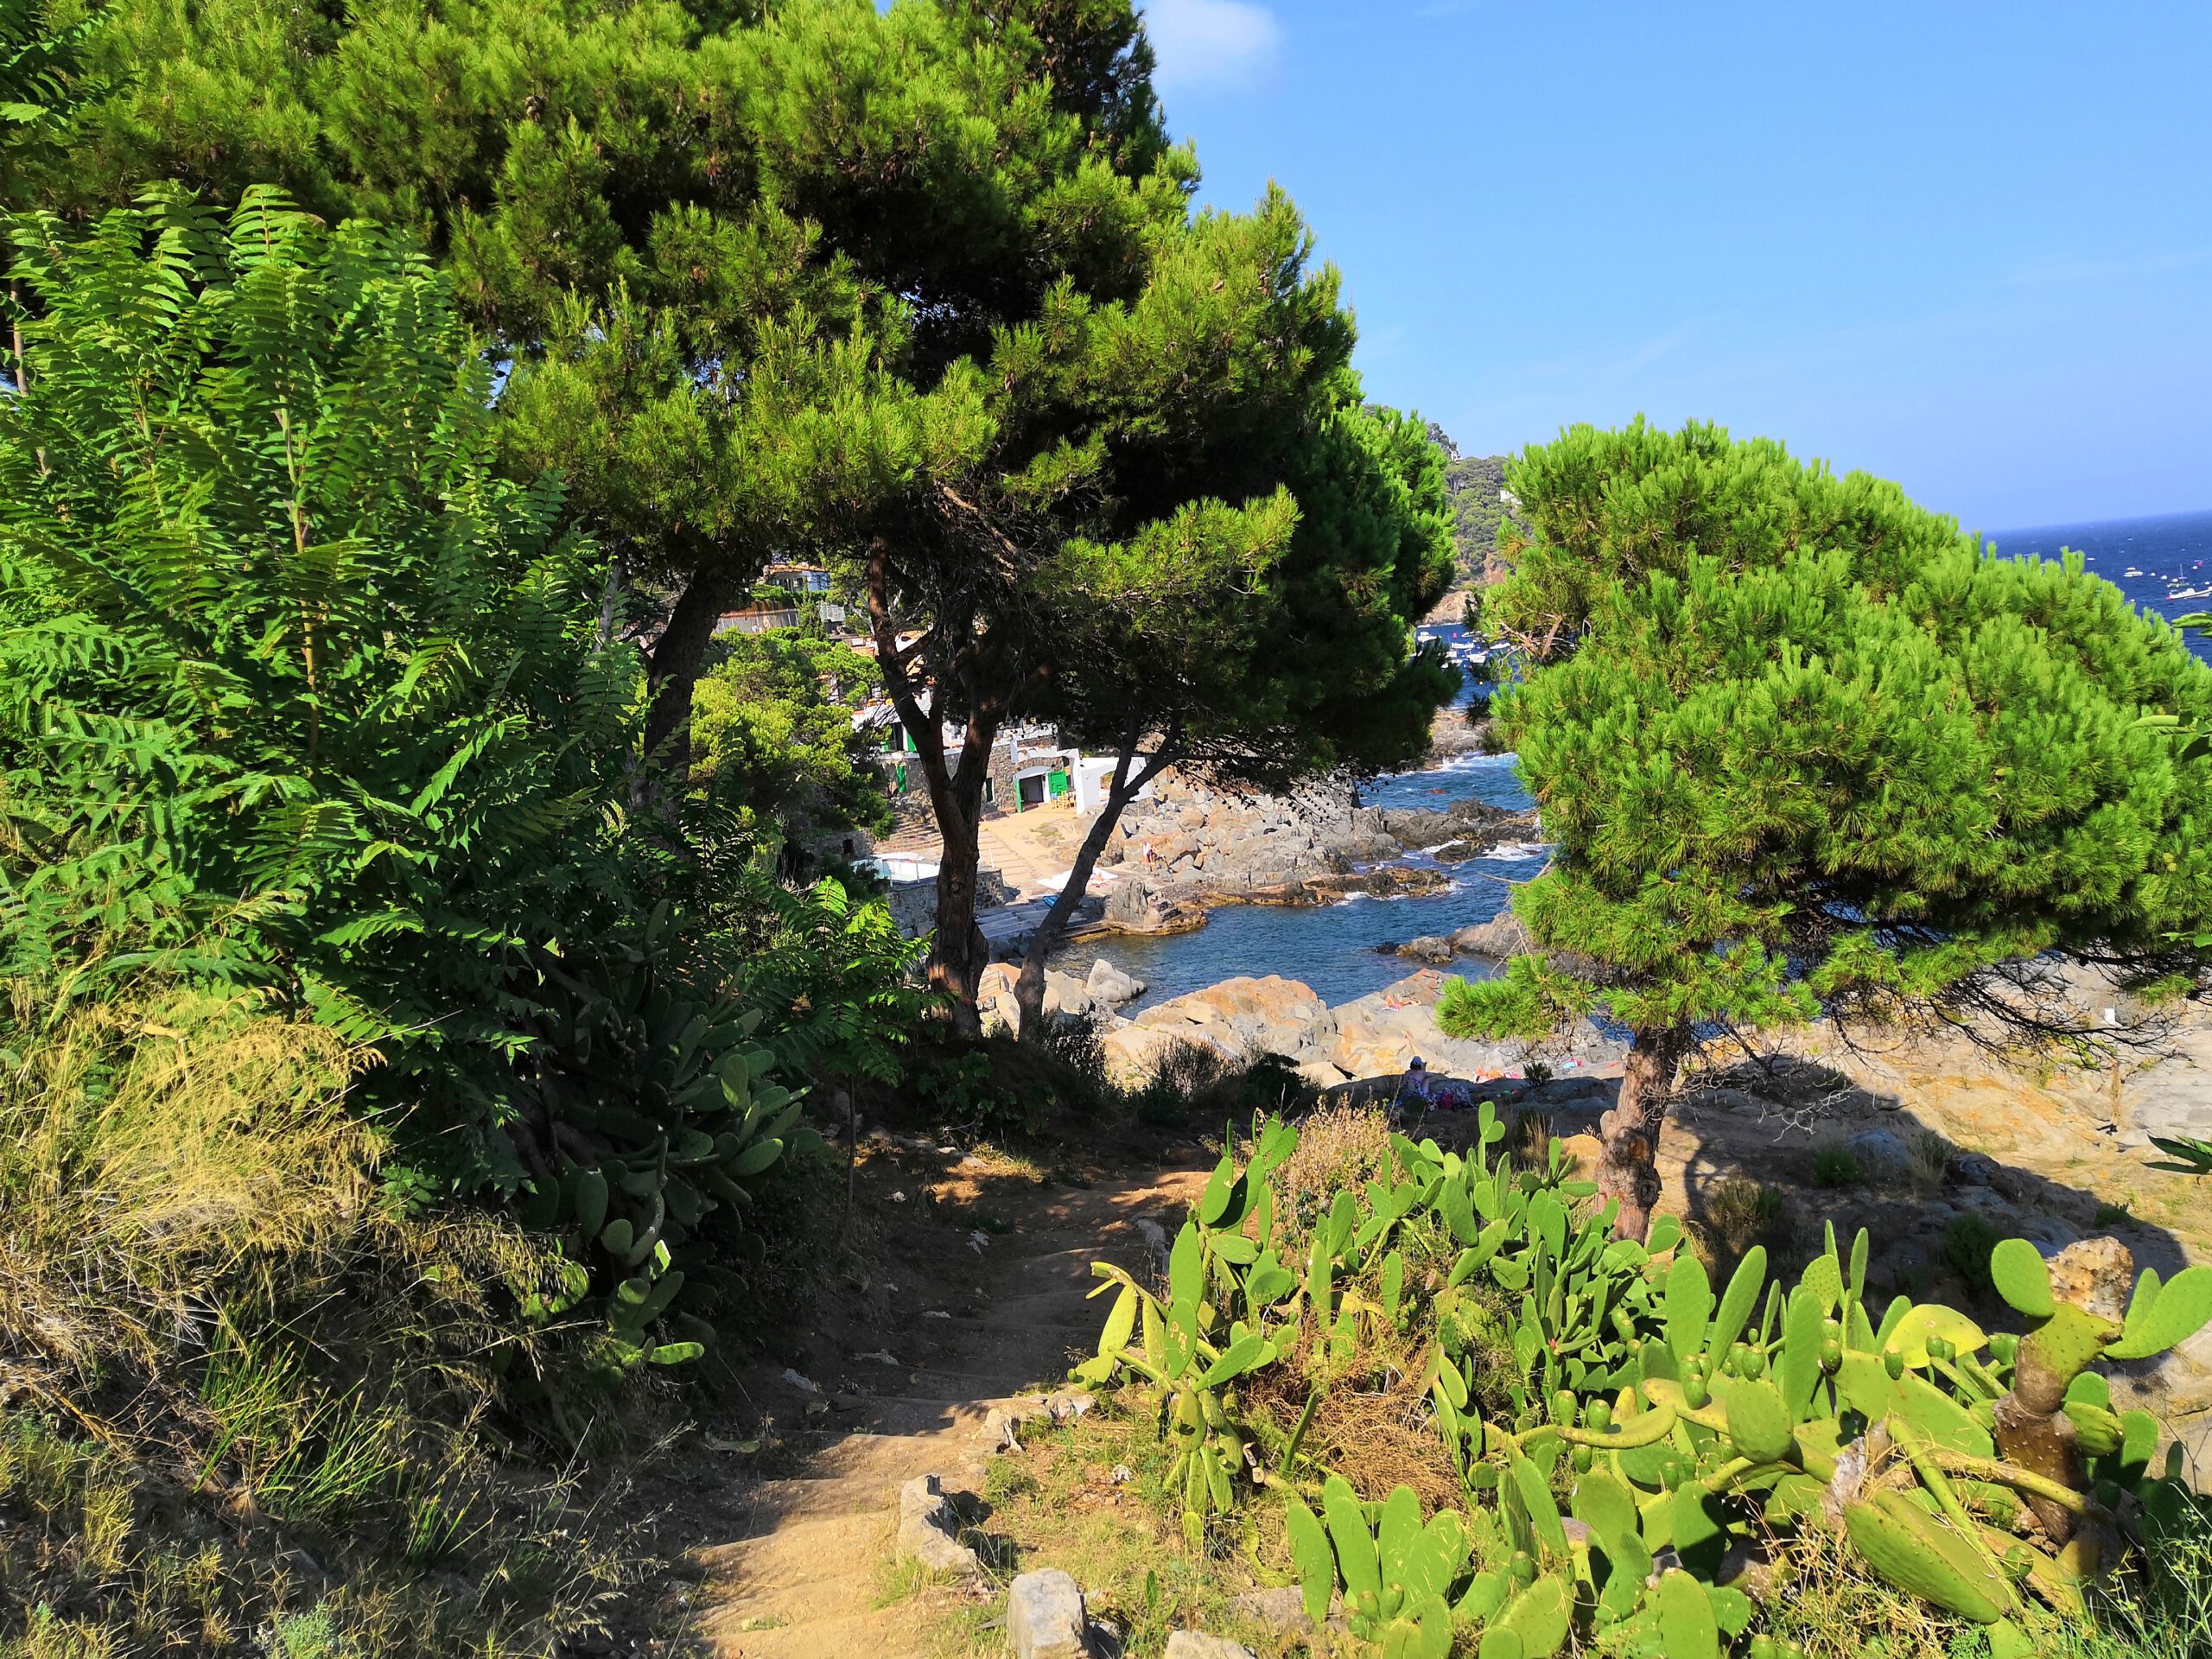
{"type": "MultiPolygon", "coordinates": [[[[2055,560],[2062,549],[2081,553],[2093,575],[2119,586],[2137,608],[2168,622],[2192,611],[2212,611],[2212,511],[2106,524],[2046,524],[1995,531],[1984,540],[1995,542],[2004,557],[2055,560]]],[[[1458,637],[1458,628],[1431,633],[1444,639],[1458,637]]],[[[2188,639],[2190,648],[2212,664],[2212,641],[2199,633],[2190,633],[2188,639]]],[[[1462,701],[1469,695],[1462,690],[1462,701]]],[[[1447,807],[1464,796],[1502,807],[1531,805],[1511,754],[1464,754],[1420,772],[1374,779],[1360,790],[1363,803],[1387,807],[1447,807]]],[[[1402,863],[1425,860],[1420,854],[1409,854],[1402,863]]],[[[1312,909],[1223,905],[1197,933],[1077,940],[1053,960],[1053,967],[1086,973],[1095,958],[1106,956],[1135,973],[1146,982],[1146,993],[1124,1013],[1239,973],[1281,973],[1303,980],[1327,1004],[1349,1002],[1416,971],[1416,962],[1387,956],[1378,947],[1491,920],[1506,907],[1513,883],[1544,869],[1544,849],[1502,847],[1500,856],[1473,858],[1449,869],[1451,885],[1444,891],[1418,898],[1358,896],[1312,909]]],[[[1455,971],[1482,975],[1489,969],[1462,958],[1455,971]]]]}

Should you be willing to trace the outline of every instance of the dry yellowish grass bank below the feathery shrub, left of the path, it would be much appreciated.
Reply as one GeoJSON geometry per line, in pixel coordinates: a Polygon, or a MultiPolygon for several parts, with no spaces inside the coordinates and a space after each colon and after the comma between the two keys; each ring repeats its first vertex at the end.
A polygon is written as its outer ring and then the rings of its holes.
{"type": "Polygon", "coordinates": [[[619,1528],[487,1436],[498,1356],[551,1354],[513,1312],[549,1254],[383,1199],[327,1031],[210,995],[13,1013],[0,1659],[522,1655],[588,1624],[619,1528]]]}

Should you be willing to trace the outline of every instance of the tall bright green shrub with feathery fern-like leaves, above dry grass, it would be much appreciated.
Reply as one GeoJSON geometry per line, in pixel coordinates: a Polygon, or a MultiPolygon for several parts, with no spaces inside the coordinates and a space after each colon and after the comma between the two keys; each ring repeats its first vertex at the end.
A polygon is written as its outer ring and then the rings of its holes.
{"type": "Polygon", "coordinates": [[[310,1006],[385,1046],[445,1179],[513,1183],[535,989],[633,887],[604,560],[493,473],[487,369],[398,237],[268,190],[13,237],[0,971],[310,1006]]]}

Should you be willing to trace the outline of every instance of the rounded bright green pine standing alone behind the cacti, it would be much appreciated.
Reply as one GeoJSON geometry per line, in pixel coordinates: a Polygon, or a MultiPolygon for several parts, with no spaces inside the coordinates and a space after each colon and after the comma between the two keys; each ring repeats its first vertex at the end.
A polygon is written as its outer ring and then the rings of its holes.
{"type": "Polygon", "coordinates": [[[1896,484],[1705,425],[1577,427],[1511,487],[1500,732],[1557,852],[1513,900],[1537,951],[1440,1024],[1632,1031],[1601,1126],[1624,1232],[1705,1033],[2079,1048],[2053,969],[2203,984],[2212,761],[2161,717],[2201,726],[2212,670],[2079,557],[2000,560],[1896,484]]]}

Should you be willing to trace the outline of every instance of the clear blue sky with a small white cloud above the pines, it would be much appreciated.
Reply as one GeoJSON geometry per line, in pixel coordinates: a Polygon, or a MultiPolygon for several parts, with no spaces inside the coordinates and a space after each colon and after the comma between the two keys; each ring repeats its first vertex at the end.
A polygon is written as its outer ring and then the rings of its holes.
{"type": "Polygon", "coordinates": [[[1148,0],[1201,197],[1276,179],[1367,394],[1637,411],[1969,529],[2212,509],[2212,0],[1148,0]]]}

